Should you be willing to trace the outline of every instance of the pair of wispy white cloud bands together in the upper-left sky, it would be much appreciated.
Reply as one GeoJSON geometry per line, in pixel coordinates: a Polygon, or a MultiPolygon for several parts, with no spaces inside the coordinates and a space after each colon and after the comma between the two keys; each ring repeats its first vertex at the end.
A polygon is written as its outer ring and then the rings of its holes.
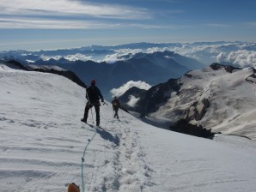
{"type": "Polygon", "coordinates": [[[0,28],[92,29],[119,27],[113,20],[149,19],[147,9],[71,0],[1,0],[0,28]]]}

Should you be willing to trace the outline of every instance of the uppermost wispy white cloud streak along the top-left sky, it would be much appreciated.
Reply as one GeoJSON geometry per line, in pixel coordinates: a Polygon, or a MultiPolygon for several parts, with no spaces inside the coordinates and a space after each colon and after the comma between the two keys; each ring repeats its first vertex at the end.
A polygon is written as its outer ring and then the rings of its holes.
{"type": "Polygon", "coordinates": [[[114,4],[96,4],[71,0],[1,0],[2,15],[91,15],[118,19],[145,18],[143,9],[114,4]]]}

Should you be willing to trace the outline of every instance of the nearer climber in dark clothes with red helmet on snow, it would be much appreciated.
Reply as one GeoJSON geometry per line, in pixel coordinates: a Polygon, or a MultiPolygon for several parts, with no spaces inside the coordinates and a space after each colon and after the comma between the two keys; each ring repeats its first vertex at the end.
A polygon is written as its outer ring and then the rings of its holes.
{"type": "Polygon", "coordinates": [[[92,80],[91,86],[86,88],[86,99],[88,99],[88,102],[85,106],[84,115],[81,121],[84,123],[87,123],[88,111],[94,106],[95,112],[96,112],[96,125],[99,126],[100,125],[100,106],[101,106],[100,99],[101,99],[101,102],[104,102],[104,99],[100,89],[96,87],[95,84],[96,84],[96,81],[92,80]]]}

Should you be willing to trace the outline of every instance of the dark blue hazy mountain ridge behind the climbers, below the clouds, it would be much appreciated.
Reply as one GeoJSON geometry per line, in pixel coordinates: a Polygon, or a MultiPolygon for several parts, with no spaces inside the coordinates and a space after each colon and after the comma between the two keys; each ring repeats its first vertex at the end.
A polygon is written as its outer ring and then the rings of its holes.
{"type": "Polygon", "coordinates": [[[188,70],[204,67],[202,63],[192,58],[182,57],[170,51],[139,53],[131,59],[113,64],[92,61],[54,64],[75,72],[86,84],[91,79],[96,79],[97,84],[108,97],[111,89],[120,87],[127,81],[146,81],[150,85],[155,85],[169,78],[180,77],[188,70]]]}

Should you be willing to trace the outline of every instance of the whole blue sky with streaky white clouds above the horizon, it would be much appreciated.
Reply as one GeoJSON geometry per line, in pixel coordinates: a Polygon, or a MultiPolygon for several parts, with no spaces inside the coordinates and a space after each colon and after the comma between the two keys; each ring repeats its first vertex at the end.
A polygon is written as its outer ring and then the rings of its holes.
{"type": "Polygon", "coordinates": [[[1,0],[0,51],[255,42],[256,0],[1,0]]]}

